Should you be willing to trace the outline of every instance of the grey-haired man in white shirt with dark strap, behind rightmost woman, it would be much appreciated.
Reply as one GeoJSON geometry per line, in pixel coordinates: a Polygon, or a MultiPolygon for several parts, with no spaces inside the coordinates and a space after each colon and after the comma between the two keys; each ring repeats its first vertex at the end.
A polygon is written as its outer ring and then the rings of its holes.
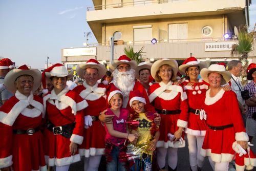
{"type": "Polygon", "coordinates": [[[244,124],[246,123],[246,113],[248,111],[248,107],[245,104],[245,100],[242,98],[241,91],[244,91],[244,87],[242,86],[240,73],[242,71],[242,62],[239,60],[230,60],[227,64],[228,71],[231,73],[231,89],[234,93],[237,94],[239,109],[242,114],[242,118],[244,124]]]}

